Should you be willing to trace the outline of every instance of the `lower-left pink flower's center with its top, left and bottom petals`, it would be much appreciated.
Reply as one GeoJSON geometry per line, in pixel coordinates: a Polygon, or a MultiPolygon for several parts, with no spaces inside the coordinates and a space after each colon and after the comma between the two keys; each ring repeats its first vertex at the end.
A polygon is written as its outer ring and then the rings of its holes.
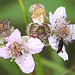
{"type": "Polygon", "coordinates": [[[9,36],[6,47],[0,48],[0,57],[11,58],[11,61],[15,59],[15,62],[24,73],[31,73],[34,70],[35,62],[30,52],[25,48],[18,29],[9,36]]]}

